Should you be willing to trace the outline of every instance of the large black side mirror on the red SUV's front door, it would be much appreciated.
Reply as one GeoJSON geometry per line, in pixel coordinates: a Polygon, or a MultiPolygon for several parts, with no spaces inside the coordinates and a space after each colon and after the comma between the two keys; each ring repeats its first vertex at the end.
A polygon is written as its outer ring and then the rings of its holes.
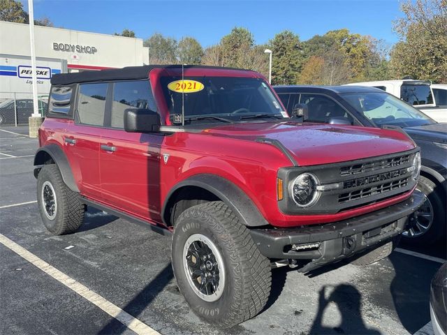
{"type": "Polygon", "coordinates": [[[159,131],[160,115],[153,110],[128,108],[124,110],[124,130],[129,133],[152,133],[159,131]]]}

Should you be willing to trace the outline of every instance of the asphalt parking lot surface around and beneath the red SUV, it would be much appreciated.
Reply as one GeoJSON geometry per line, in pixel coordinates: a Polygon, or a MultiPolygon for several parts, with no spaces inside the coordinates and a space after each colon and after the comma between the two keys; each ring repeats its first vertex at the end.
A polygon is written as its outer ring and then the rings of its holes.
{"type": "Polygon", "coordinates": [[[431,334],[430,281],[445,245],[401,246],[369,267],[274,269],[265,311],[214,329],[178,292],[169,237],[90,208],[75,234],[45,230],[32,175],[37,147],[27,128],[0,128],[0,334],[415,334],[423,327],[419,334],[431,334]]]}

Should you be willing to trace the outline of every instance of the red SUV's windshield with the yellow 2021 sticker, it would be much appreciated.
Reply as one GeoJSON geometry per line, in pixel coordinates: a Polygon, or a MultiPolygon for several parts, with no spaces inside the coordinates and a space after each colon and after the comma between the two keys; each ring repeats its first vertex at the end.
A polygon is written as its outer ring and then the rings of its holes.
{"type": "Polygon", "coordinates": [[[250,77],[161,77],[163,94],[171,118],[182,114],[185,120],[233,121],[257,117],[288,117],[272,90],[261,78],[250,77]],[[182,94],[182,89],[184,93],[182,94]],[[261,115],[262,114],[262,115],[261,115]],[[214,117],[214,118],[213,118],[214,117]]]}

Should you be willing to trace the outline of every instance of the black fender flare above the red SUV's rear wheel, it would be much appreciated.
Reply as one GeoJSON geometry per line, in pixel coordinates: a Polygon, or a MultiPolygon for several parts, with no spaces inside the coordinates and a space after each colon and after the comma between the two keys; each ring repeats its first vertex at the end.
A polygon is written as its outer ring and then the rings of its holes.
{"type": "Polygon", "coordinates": [[[38,172],[43,168],[43,165],[45,165],[48,156],[50,156],[52,161],[54,161],[59,168],[66,186],[68,186],[71,191],[79,193],[79,188],[73,177],[73,172],[71,171],[68,159],[65,156],[64,151],[57,144],[48,144],[36,151],[36,154],[34,155],[34,177],[37,178],[38,172]]]}

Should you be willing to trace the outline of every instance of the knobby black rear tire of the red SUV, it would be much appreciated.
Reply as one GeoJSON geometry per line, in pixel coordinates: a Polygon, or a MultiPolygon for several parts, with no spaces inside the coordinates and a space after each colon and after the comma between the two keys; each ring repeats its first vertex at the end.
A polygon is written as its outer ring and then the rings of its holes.
{"type": "Polygon", "coordinates": [[[37,178],[37,203],[45,228],[55,235],[70,234],[80,228],[84,221],[85,204],[80,201],[79,195],[71,191],[62,179],[61,172],[55,164],[45,165],[37,178]],[[49,182],[56,196],[56,215],[50,219],[45,214],[42,188],[49,182]]]}

